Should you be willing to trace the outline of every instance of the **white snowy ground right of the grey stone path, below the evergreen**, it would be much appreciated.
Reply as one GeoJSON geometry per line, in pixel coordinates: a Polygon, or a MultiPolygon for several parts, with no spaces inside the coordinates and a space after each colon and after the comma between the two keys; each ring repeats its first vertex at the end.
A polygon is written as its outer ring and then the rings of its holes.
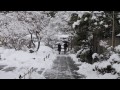
{"type": "MultiPolygon", "coordinates": [[[[77,72],[79,74],[85,75],[85,79],[117,79],[119,77],[118,74],[113,75],[111,73],[106,73],[102,75],[97,71],[93,71],[95,66],[98,66],[99,68],[104,68],[107,65],[109,65],[110,62],[113,60],[120,61],[120,57],[118,54],[113,54],[107,61],[97,62],[97,63],[94,63],[93,65],[80,62],[78,58],[76,58],[75,54],[71,54],[70,56],[73,58],[76,64],[79,64],[79,70],[77,72]]],[[[117,72],[120,72],[120,64],[113,64],[112,67],[117,72]]]]}

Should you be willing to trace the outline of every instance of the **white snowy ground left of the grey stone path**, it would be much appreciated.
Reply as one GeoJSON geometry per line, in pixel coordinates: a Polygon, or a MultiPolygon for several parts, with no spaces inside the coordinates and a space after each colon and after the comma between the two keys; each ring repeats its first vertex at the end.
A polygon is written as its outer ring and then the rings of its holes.
{"type": "MultiPolygon", "coordinates": [[[[4,49],[2,47],[0,47],[0,53],[0,79],[18,79],[19,75],[24,75],[32,67],[36,69],[36,72],[31,74],[31,78],[44,79],[41,70],[45,71],[50,68],[56,58],[54,51],[44,46],[44,44],[40,46],[37,53],[15,51],[14,49],[4,49]],[[46,58],[49,54],[50,57],[46,58]]],[[[28,76],[26,75],[25,78],[27,79],[28,76]]]]}

